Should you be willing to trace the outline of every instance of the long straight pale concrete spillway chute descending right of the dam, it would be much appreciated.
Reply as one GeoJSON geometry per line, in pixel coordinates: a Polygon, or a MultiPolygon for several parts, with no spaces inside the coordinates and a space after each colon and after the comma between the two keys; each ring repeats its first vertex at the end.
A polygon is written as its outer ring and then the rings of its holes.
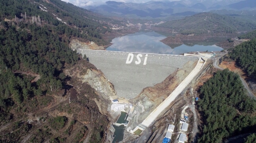
{"type": "Polygon", "coordinates": [[[190,83],[190,81],[199,73],[202,69],[203,65],[205,64],[207,58],[199,58],[198,63],[196,64],[195,68],[192,72],[181,82],[179,86],[158,106],[154,111],[152,111],[148,117],[134,130],[131,130],[131,133],[134,133],[136,130],[144,130],[142,127],[149,127],[150,124],[153,123],[155,119],[157,119],[158,115],[168,107],[171,102],[181,93],[181,91],[190,83]]]}

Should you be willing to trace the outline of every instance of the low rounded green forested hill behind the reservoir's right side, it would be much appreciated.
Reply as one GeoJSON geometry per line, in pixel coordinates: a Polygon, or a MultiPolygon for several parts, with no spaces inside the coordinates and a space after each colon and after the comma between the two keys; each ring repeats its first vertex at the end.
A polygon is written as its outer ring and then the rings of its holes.
{"type": "Polygon", "coordinates": [[[181,20],[168,21],[156,27],[170,28],[181,34],[236,33],[256,29],[256,19],[200,13],[181,20]]]}

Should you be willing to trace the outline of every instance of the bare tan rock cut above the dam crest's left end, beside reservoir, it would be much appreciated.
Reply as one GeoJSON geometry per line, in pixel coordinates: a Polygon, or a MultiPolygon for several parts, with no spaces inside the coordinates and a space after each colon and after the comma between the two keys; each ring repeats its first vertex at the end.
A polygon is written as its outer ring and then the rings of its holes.
{"type": "Polygon", "coordinates": [[[103,46],[98,46],[97,44],[95,44],[94,42],[80,42],[77,39],[72,39],[69,47],[72,50],[76,50],[76,49],[90,49],[90,50],[105,50],[103,46]]]}

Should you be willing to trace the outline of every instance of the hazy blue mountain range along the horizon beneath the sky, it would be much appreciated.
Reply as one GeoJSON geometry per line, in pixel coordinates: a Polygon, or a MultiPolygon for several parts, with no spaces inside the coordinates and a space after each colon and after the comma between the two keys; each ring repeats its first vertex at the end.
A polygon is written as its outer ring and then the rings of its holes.
{"type": "Polygon", "coordinates": [[[255,0],[181,0],[125,3],[107,1],[97,7],[85,7],[103,15],[136,15],[141,18],[159,18],[176,13],[201,13],[213,10],[256,10],[255,0]]]}

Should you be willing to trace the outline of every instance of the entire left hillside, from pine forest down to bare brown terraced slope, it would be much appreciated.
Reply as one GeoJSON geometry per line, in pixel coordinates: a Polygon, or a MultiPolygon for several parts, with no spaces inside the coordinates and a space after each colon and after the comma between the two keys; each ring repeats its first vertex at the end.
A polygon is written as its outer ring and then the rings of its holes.
{"type": "Polygon", "coordinates": [[[90,65],[69,41],[108,44],[108,20],[61,0],[0,1],[0,142],[106,140],[109,121],[93,101],[101,97],[87,84],[76,92],[63,71],[90,65]]]}

